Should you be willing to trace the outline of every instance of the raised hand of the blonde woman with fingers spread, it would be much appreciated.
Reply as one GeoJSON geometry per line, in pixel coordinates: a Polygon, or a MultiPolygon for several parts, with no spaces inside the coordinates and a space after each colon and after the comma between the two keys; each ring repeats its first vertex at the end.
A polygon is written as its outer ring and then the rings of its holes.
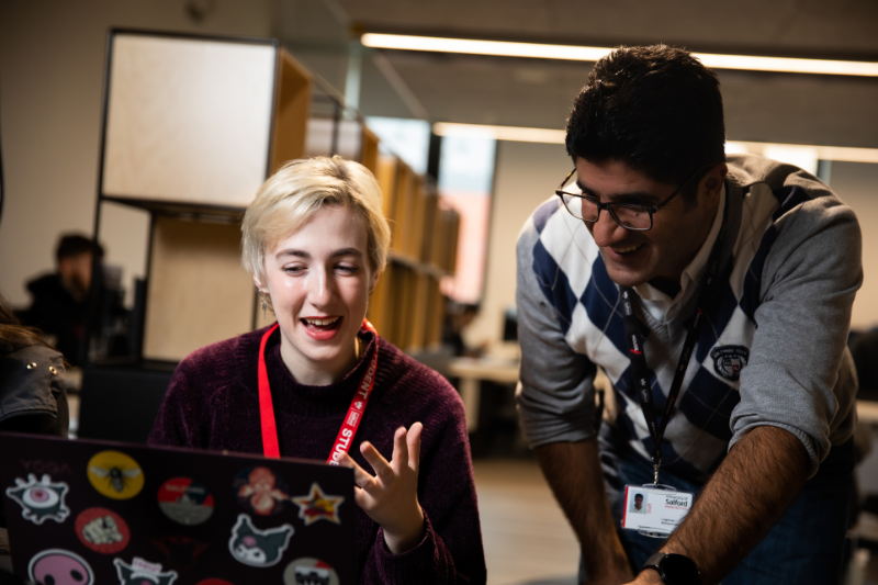
{"type": "Polygon", "coordinates": [[[360,452],[372,466],[372,476],[347,453],[342,464],[353,469],[357,504],[384,528],[384,542],[394,554],[415,547],[424,538],[424,511],[418,504],[420,431],[415,423],[407,431],[399,427],[393,436],[393,459],[389,463],[369,441],[360,452]]]}

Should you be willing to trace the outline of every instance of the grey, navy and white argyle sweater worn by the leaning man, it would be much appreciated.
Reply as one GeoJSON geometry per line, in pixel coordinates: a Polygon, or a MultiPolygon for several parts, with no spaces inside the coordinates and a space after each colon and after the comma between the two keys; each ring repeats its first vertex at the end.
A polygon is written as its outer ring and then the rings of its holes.
{"type": "MultiPolygon", "coordinates": [[[[813,475],[830,447],[851,437],[856,417],[845,342],[863,279],[859,226],[851,209],[801,169],[752,155],[730,156],[728,165],[721,290],[706,307],[671,414],[663,466],[703,481],[747,430],[770,425],[802,441],[813,475]]],[[[711,245],[709,237],[705,246],[711,245]]],[[[605,418],[649,459],[653,441],[632,380],[619,288],[588,229],[556,198],[549,200],[525,224],[517,256],[517,402],[529,442],[594,435],[600,367],[612,384],[605,418]]],[[[702,249],[697,258],[705,256],[702,249]]],[[[695,289],[691,283],[668,300],[664,315],[640,299],[635,306],[660,413],[695,289]]]]}

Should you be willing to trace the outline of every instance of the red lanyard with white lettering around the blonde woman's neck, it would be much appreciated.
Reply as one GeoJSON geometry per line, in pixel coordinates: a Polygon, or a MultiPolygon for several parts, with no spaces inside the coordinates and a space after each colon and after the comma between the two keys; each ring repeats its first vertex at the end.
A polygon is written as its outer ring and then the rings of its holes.
{"type": "MultiPolygon", "coordinates": [[[[268,370],[266,369],[266,346],[268,338],[278,328],[279,324],[274,324],[262,336],[262,341],[259,344],[259,416],[262,424],[262,450],[266,457],[278,459],[281,457],[281,449],[278,445],[278,426],[274,423],[274,406],[271,403],[271,386],[268,382],[268,370]]],[[[365,331],[371,331],[375,335],[375,351],[372,355],[372,361],[369,369],[363,374],[362,380],[357,386],[357,394],[348,408],[348,414],[345,415],[345,420],[341,423],[341,428],[336,437],[336,442],[333,445],[333,450],[326,462],[330,465],[338,465],[338,460],[341,453],[347,453],[350,449],[350,442],[353,436],[357,435],[357,429],[360,427],[360,420],[363,418],[365,405],[369,404],[369,396],[372,394],[372,386],[375,384],[375,372],[378,371],[378,331],[369,323],[363,319],[362,328],[365,331]]]]}

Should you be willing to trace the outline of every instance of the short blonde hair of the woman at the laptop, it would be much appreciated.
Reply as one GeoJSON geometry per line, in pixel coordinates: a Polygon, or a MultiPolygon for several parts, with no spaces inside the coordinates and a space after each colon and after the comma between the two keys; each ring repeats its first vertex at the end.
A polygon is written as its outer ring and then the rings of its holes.
{"type": "Polygon", "coordinates": [[[391,230],[381,209],[381,188],[369,169],[340,156],[292,160],[262,183],[244,214],[244,268],[264,283],[266,252],[327,205],[358,214],[369,237],[369,263],[372,270],[383,269],[391,230]]]}

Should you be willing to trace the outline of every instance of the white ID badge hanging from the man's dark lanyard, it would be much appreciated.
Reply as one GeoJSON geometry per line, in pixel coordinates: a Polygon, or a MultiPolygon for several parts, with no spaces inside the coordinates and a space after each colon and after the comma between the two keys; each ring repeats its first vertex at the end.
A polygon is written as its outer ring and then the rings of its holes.
{"type": "Polygon", "coordinates": [[[626,485],[622,528],[667,538],[689,513],[694,498],[669,485],[626,485]]]}

